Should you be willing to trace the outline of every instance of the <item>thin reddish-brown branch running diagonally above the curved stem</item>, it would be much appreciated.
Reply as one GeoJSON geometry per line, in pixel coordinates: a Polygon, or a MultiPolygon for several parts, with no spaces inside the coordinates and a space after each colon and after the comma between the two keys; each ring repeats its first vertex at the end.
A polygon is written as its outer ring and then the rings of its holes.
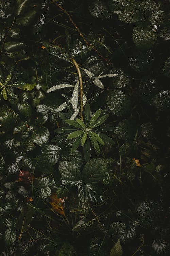
{"type": "Polygon", "coordinates": [[[79,32],[80,36],[83,38],[84,42],[87,44],[88,47],[92,48],[103,60],[105,60],[109,65],[113,66],[112,62],[109,62],[107,58],[105,58],[101,53],[98,52],[98,50],[95,48],[94,45],[90,44],[84,37],[84,35],[81,33],[80,29],[78,28],[77,24],[73,21],[70,14],[58,3],[55,3],[70,19],[71,23],[74,25],[75,29],[79,32]]]}

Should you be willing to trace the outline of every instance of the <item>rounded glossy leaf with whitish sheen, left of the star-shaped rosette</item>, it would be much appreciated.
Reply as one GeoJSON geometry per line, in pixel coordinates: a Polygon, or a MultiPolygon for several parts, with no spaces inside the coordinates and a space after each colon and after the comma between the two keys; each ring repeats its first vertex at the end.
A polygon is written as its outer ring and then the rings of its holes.
{"type": "Polygon", "coordinates": [[[35,144],[42,146],[47,143],[50,138],[50,132],[45,126],[35,127],[32,130],[32,139],[35,144]]]}

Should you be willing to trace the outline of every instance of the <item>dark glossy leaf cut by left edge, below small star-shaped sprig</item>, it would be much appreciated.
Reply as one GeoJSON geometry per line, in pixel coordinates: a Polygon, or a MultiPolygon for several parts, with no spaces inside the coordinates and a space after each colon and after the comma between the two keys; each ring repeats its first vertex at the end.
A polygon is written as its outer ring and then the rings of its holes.
{"type": "Polygon", "coordinates": [[[17,124],[18,114],[7,105],[0,108],[0,122],[5,131],[11,131],[17,124]]]}

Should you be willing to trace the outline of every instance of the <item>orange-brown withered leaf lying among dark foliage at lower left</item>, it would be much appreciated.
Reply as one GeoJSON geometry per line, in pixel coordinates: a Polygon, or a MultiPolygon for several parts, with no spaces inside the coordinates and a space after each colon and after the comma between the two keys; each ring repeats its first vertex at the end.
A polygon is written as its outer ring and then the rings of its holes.
{"type": "Polygon", "coordinates": [[[50,204],[52,206],[51,209],[54,212],[57,212],[65,217],[66,216],[64,212],[65,205],[64,205],[63,198],[58,198],[56,194],[53,194],[50,196],[50,200],[51,200],[50,204]]]}

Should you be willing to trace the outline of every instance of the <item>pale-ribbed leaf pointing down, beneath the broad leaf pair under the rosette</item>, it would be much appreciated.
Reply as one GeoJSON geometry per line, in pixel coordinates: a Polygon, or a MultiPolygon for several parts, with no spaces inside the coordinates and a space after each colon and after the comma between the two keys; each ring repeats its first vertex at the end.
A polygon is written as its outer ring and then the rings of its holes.
{"type": "Polygon", "coordinates": [[[99,194],[94,184],[80,183],[78,186],[78,197],[83,203],[99,202],[99,194]]]}

